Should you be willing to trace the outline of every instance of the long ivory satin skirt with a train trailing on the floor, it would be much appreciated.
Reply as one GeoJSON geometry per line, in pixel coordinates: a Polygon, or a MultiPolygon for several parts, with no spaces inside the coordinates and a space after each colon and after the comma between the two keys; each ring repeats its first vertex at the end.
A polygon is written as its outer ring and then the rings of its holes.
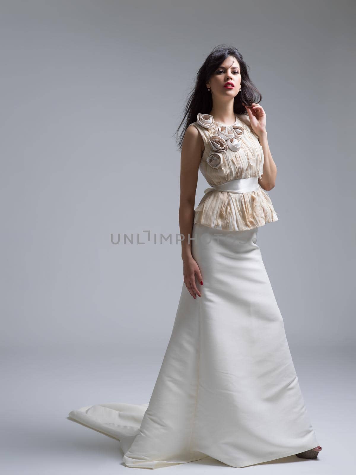
{"type": "Polygon", "coordinates": [[[69,413],[120,440],[126,466],[155,469],[210,456],[244,467],[319,445],[257,233],[194,224],[201,297],[182,285],[149,403],[69,413]]]}

